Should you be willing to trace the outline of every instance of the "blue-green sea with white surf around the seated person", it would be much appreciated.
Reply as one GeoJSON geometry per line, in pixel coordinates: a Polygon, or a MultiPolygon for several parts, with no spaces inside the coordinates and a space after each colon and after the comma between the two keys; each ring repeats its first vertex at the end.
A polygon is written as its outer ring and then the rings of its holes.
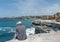
{"type": "Polygon", "coordinates": [[[31,19],[3,19],[0,20],[0,42],[13,39],[18,21],[22,21],[22,24],[25,25],[27,36],[34,34],[35,29],[31,26],[31,19]]]}

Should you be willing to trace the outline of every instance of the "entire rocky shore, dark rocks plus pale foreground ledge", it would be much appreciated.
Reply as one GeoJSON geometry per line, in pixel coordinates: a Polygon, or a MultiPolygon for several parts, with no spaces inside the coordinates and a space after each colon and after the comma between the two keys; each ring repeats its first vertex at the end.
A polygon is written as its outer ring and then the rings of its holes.
{"type": "Polygon", "coordinates": [[[19,41],[13,39],[7,42],[60,42],[60,22],[49,22],[46,20],[43,21],[44,25],[40,25],[39,22],[37,21],[33,25],[35,27],[35,34],[29,35],[26,40],[19,41]]]}

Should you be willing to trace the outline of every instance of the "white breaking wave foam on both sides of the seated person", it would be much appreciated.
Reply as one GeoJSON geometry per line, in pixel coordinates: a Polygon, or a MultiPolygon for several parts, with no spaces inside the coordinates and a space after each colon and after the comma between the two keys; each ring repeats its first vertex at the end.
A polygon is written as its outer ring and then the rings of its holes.
{"type": "MultiPolygon", "coordinates": [[[[6,31],[5,33],[11,33],[16,31],[16,27],[0,27],[0,31],[6,31]]],[[[27,28],[26,29],[26,34],[28,35],[32,35],[35,33],[35,28],[31,27],[31,28],[27,28]]]]}

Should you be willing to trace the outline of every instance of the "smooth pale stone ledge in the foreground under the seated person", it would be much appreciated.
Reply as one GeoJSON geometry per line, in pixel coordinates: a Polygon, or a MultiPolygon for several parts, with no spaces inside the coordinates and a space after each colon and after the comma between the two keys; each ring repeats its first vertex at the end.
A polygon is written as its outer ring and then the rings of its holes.
{"type": "Polygon", "coordinates": [[[50,33],[30,35],[26,40],[23,41],[13,39],[7,42],[60,42],[60,31],[51,31],[50,33]]]}

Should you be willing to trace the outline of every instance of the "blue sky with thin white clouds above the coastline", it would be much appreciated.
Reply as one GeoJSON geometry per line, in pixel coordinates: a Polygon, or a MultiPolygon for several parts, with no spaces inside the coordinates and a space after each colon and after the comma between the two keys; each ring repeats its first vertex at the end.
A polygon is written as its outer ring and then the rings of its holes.
{"type": "Polygon", "coordinates": [[[53,15],[60,0],[0,0],[0,17],[53,15]]]}

